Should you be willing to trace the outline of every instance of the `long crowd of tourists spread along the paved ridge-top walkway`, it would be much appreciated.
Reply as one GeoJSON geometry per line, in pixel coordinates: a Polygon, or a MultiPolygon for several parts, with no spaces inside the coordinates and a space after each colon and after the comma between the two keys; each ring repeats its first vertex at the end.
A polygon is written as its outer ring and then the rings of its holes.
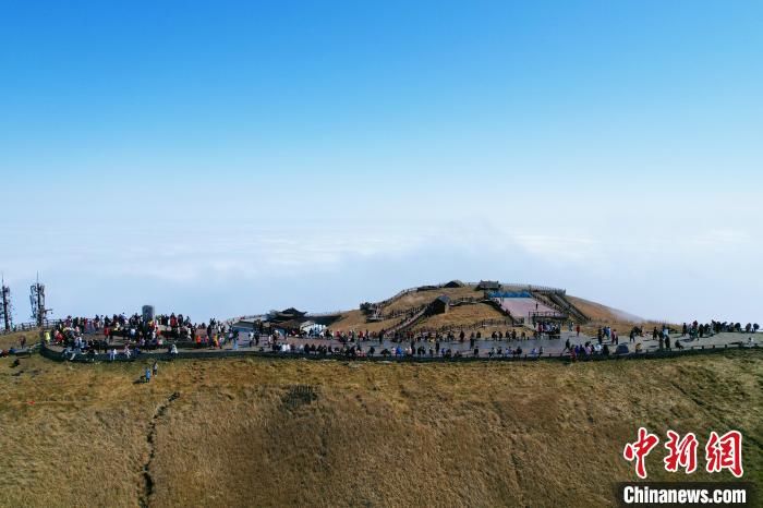
{"type": "MultiPolygon", "coordinates": [[[[699,340],[720,332],[758,332],[758,324],[716,322],[708,324],[685,323],[678,329],[667,325],[654,326],[647,332],[641,326],[633,326],[629,332],[630,348],[620,344],[617,329],[601,326],[595,339],[572,344],[570,338],[580,337],[580,325],[572,322],[565,326],[569,331],[562,354],[572,359],[595,355],[627,354],[642,352],[646,338],[654,340],[649,348],[657,351],[671,351],[687,348],[686,342],[699,340]],[[673,337],[671,337],[673,334],[673,337]],[[677,337],[680,334],[680,338],[677,337]]],[[[160,314],[146,319],[140,314],[96,315],[94,317],[72,317],[56,324],[44,332],[47,344],[59,346],[62,355],[69,360],[84,355],[95,361],[105,354],[109,361],[132,360],[145,351],[167,351],[170,356],[179,354],[179,348],[207,348],[238,350],[240,347],[259,352],[277,352],[306,355],[339,355],[343,358],[534,358],[543,356],[542,343],[536,339],[559,338],[562,323],[558,320],[537,322],[533,328],[509,327],[502,329],[441,329],[404,331],[331,330],[326,326],[311,326],[304,330],[284,330],[278,323],[258,322],[251,329],[234,328],[229,323],[209,319],[193,323],[187,315],[160,314]],[[294,339],[308,339],[305,341],[294,339]],[[339,342],[339,346],[331,341],[339,342]],[[514,342],[513,344],[486,343],[514,342]],[[517,342],[533,341],[526,348],[517,342]],[[317,342],[317,343],[315,343],[317,342]],[[324,342],[324,343],[322,343],[324,342]],[[328,342],[328,343],[325,343],[328,342]]],[[[754,343],[752,339],[749,343],[754,343]]],[[[24,344],[22,344],[22,349],[24,344]]],[[[559,352],[552,348],[553,354],[559,352]]],[[[3,354],[4,352],[0,352],[3,354]]]]}

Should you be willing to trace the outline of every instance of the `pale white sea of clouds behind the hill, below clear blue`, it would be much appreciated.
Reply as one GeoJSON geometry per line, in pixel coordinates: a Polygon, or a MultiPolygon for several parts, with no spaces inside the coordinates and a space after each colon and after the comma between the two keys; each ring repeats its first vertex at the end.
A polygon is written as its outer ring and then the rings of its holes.
{"type": "Polygon", "coordinates": [[[596,216],[580,206],[541,213],[516,202],[498,213],[443,214],[432,207],[431,219],[281,226],[94,220],[81,230],[44,226],[39,234],[29,225],[11,235],[15,249],[3,269],[16,295],[24,293],[22,305],[16,299],[22,309],[39,270],[59,316],[130,313],[145,303],[199,319],[290,305],[348,310],[458,278],[565,287],[647,318],[760,317],[760,288],[750,277],[763,247],[756,225],[724,227],[734,216],[751,217],[758,205],[729,204],[736,210],[729,217],[700,206],[697,213],[706,211],[691,225],[639,221],[616,209],[596,216]]]}

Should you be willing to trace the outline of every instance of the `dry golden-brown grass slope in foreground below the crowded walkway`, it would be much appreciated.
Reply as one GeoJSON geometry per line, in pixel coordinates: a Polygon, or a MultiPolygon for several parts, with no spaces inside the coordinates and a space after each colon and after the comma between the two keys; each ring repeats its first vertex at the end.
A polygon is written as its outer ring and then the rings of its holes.
{"type": "MultiPolygon", "coordinates": [[[[178,361],[149,385],[133,384],[137,362],[9,363],[3,506],[136,506],[153,424],[152,506],[607,506],[613,483],[634,479],[621,451],[640,425],[663,436],[739,428],[748,480],[760,485],[763,471],[760,351],[578,364],[178,361]],[[317,400],[284,404],[294,385],[317,400]]],[[[668,477],[661,457],[650,456],[655,480],[668,477]]]]}

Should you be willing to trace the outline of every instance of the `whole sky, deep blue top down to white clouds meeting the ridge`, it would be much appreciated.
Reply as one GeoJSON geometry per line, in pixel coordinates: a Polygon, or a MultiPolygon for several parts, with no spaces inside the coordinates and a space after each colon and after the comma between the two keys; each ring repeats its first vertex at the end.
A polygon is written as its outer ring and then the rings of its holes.
{"type": "Polygon", "coordinates": [[[37,270],[56,315],[498,278],[760,322],[761,61],[752,1],[0,2],[0,269],[17,322],[37,270]]]}

